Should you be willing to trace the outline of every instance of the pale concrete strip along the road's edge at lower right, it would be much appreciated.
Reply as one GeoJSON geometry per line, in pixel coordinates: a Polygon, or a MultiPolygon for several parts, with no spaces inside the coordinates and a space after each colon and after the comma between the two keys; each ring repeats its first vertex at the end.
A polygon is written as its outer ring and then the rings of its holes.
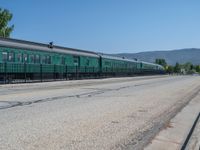
{"type": "MultiPolygon", "coordinates": [[[[199,112],[200,93],[169,122],[165,129],[161,130],[154,137],[151,143],[145,147],[145,150],[181,149],[199,112]]],[[[193,140],[196,139],[194,138],[193,140]]],[[[192,143],[198,144],[198,141],[193,141],[192,143]]],[[[193,145],[193,147],[198,146],[193,145]]]]}

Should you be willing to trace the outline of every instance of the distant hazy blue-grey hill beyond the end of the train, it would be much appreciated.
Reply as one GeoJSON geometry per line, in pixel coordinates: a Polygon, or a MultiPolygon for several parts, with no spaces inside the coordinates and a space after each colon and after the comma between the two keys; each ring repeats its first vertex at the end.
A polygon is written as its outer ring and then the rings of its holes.
{"type": "Polygon", "coordinates": [[[155,62],[156,58],[163,58],[166,60],[167,64],[170,65],[174,65],[176,62],[181,64],[186,62],[191,62],[195,65],[200,64],[200,49],[197,48],[140,53],[119,53],[112,55],[130,59],[136,58],[148,62],[155,62]]]}

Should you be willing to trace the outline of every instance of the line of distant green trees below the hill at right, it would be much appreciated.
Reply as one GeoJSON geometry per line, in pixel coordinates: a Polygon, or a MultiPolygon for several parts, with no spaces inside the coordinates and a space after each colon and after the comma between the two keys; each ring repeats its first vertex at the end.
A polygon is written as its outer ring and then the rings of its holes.
{"type": "Polygon", "coordinates": [[[166,73],[173,74],[200,74],[200,65],[193,65],[191,62],[179,64],[178,62],[173,65],[168,65],[165,59],[156,59],[156,64],[159,64],[165,68],[166,73]]]}

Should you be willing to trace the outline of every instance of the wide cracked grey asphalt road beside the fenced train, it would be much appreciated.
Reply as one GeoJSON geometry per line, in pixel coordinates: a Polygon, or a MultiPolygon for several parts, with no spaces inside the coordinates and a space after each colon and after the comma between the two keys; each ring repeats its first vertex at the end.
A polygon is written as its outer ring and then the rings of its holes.
{"type": "Polygon", "coordinates": [[[198,76],[0,86],[0,149],[141,149],[199,92],[198,76]]]}

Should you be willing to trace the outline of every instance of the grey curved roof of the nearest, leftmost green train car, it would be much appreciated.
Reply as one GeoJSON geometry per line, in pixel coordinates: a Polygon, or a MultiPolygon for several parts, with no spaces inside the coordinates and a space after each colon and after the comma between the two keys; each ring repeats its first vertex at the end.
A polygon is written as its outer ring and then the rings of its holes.
{"type": "Polygon", "coordinates": [[[92,52],[92,51],[62,47],[62,46],[57,46],[57,45],[53,45],[52,47],[49,47],[50,46],[49,44],[11,39],[11,38],[0,37],[0,46],[21,48],[21,49],[27,49],[27,50],[41,50],[41,51],[46,51],[46,52],[58,52],[58,53],[65,53],[65,54],[72,54],[72,55],[99,57],[97,53],[92,52]]]}

